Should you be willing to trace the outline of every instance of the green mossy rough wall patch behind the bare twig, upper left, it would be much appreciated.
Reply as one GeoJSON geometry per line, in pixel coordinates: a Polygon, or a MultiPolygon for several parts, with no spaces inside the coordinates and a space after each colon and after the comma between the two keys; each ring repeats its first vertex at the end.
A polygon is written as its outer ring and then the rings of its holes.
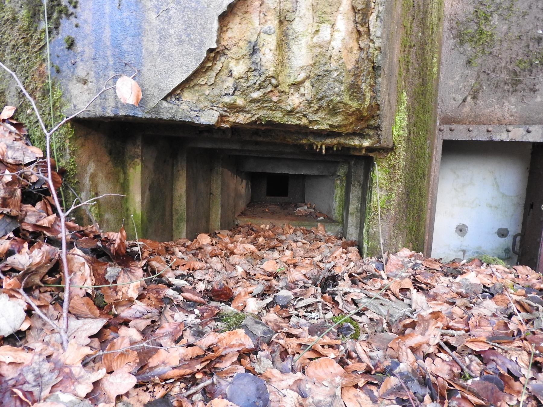
{"type": "MultiPolygon", "coordinates": [[[[73,15],[73,11],[62,4],[61,0],[49,0],[47,12],[49,37],[56,33],[61,18],[73,15]]],[[[64,118],[62,110],[65,106],[60,86],[53,81],[53,117],[51,116],[43,20],[42,2],[19,0],[0,3],[0,59],[17,74],[34,98],[46,127],[52,128],[52,123],[58,123],[64,118]]],[[[0,101],[17,106],[15,118],[27,126],[30,141],[45,151],[45,135],[29,101],[4,72],[0,73],[0,101]]],[[[72,126],[69,123],[62,126],[53,135],[52,152],[58,159],[58,167],[65,170],[64,182],[74,185],[75,162],[70,143],[72,136],[72,126]]],[[[61,192],[67,201],[71,200],[69,189],[62,188],[61,192]]]]}

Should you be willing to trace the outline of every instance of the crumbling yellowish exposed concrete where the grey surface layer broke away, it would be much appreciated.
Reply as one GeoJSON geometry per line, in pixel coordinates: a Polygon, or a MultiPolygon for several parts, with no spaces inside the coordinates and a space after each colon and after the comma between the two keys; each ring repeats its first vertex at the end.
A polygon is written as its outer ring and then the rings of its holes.
{"type": "Polygon", "coordinates": [[[354,3],[233,4],[220,21],[217,49],[166,101],[197,123],[301,126],[375,144],[374,2],[354,3]]]}

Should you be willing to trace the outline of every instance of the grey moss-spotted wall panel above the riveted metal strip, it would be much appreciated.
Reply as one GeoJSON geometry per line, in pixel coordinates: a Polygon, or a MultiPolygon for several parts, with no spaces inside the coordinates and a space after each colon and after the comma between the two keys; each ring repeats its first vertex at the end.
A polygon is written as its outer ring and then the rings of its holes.
{"type": "Polygon", "coordinates": [[[441,124],[543,124],[542,15],[540,0],[445,0],[441,124]]]}

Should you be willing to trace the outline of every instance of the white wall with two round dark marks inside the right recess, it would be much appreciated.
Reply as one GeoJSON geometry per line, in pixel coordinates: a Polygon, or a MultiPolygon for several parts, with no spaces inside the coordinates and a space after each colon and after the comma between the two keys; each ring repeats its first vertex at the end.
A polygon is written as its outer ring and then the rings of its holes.
{"type": "Polygon", "coordinates": [[[516,264],[531,143],[446,141],[443,145],[432,256],[487,254],[516,264]]]}

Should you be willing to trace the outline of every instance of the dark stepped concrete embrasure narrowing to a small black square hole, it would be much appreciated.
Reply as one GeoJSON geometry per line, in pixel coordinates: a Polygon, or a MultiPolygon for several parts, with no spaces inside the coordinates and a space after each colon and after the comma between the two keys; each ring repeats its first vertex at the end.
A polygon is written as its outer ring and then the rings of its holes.
{"type": "MultiPolygon", "coordinates": [[[[106,188],[127,195],[115,215],[113,199],[99,204],[108,205],[109,218],[97,216],[104,227],[134,215],[140,237],[168,241],[248,222],[323,224],[328,233],[362,241],[369,156],[255,140],[267,129],[85,120],[77,130],[80,147],[92,150],[88,162],[78,162],[82,187],[94,195],[106,188]],[[97,171],[100,156],[115,164],[110,185],[105,171],[97,171]]],[[[126,221],[125,228],[134,234],[126,221]]]]}

